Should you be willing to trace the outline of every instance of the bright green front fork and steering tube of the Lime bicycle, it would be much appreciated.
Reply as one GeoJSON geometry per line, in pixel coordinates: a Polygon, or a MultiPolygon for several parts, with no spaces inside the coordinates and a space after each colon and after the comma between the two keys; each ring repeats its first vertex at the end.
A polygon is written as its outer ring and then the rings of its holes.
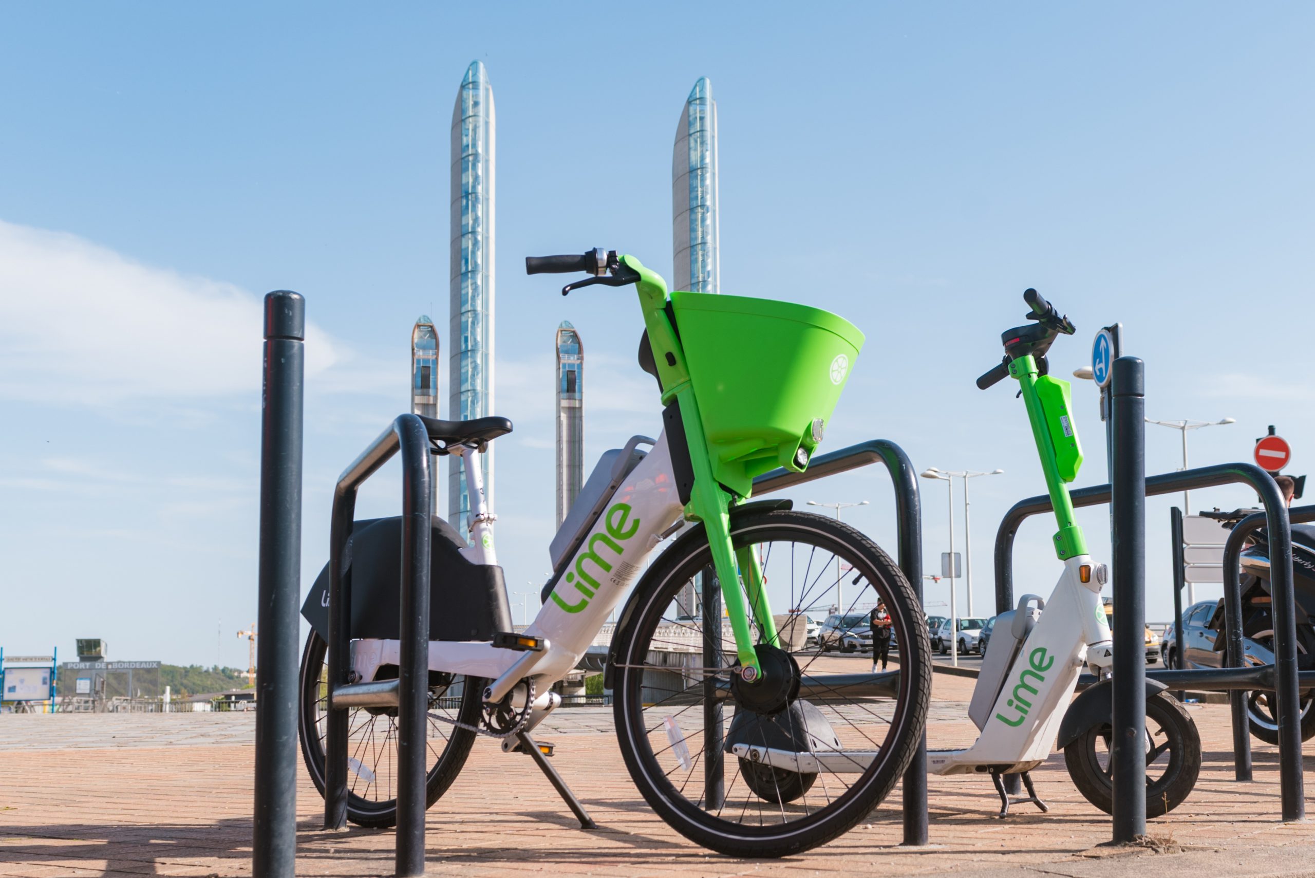
{"type": "MultiPolygon", "coordinates": [[[[713,461],[704,436],[702,418],[698,414],[698,401],[689,381],[685,365],[685,352],[676,338],[676,330],[667,317],[667,281],[654,271],[643,267],[634,256],[621,256],[622,264],[639,275],[636,283],[639,302],[643,308],[644,327],[648,330],[648,344],[652,347],[654,363],[661,379],[663,405],[675,401],[680,406],[680,417],[685,422],[685,442],[689,446],[689,460],[694,468],[694,489],[690,496],[692,518],[704,523],[707,544],[713,551],[713,566],[721,580],[722,599],[726,602],[726,615],[735,634],[735,653],[740,665],[753,668],[761,678],[761,666],[753,651],[753,634],[750,628],[748,607],[744,605],[744,590],[735,564],[735,551],[730,536],[730,496],[721,489],[713,476],[713,461]]],[[[752,556],[752,552],[750,552],[752,556]]],[[[767,594],[761,590],[761,572],[757,560],[748,565],[747,586],[753,601],[753,615],[768,643],[777,641],[772,610],[767,594]],[[765,619],[765,624],[764,624],[765,619]]]]}

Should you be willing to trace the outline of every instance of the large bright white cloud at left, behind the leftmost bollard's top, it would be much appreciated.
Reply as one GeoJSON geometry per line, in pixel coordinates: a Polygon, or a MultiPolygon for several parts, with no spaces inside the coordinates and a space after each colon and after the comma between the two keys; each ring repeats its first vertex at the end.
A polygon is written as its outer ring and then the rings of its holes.
{"type": "MultiPolygon", "coordinates": [[[[259,392],[260,298],[0,221],[0,397],[79,405],[259,392]]],[[[306,373],[346,354],[306,327],[306,373]]]]}

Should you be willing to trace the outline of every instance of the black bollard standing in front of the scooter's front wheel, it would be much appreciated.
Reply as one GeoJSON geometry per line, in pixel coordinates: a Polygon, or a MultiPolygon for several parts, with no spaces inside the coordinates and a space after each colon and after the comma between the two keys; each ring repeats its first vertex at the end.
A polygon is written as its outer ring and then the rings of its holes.
{"type": "Polygon", "coordinates": [[[1114,361],[1110,473],[1114,578],[1114,841],[1147,831],[1145,765],[1145,379],[1135,356],[1114,361]]]}

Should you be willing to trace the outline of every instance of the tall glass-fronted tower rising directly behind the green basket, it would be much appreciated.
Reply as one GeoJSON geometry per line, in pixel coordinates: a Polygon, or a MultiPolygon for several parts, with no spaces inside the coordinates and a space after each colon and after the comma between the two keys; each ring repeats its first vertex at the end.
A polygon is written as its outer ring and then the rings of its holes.
{"type": "Polygon", "coordinates": [[[717,101],[706,76],[694,83],[676,126],[671,201],[676,289],[719,293],[717,101]]]}

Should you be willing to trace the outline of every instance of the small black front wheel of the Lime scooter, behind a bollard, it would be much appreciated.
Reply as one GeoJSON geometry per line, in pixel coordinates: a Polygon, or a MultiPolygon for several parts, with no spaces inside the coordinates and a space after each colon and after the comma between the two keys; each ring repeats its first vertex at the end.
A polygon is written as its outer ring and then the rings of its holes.
{"type": "MultiPolygon", "coordinates": [[[[1112,814],[1109,723],[1093,726],[1064,748],[1073,785],[1088,802],[1112,814]]],[[[1182,705],[1169,693],[1147,699],[1147,816],[1160,818],[1182,804],[1201,774],[1201,735],[1182,705]]]]}

